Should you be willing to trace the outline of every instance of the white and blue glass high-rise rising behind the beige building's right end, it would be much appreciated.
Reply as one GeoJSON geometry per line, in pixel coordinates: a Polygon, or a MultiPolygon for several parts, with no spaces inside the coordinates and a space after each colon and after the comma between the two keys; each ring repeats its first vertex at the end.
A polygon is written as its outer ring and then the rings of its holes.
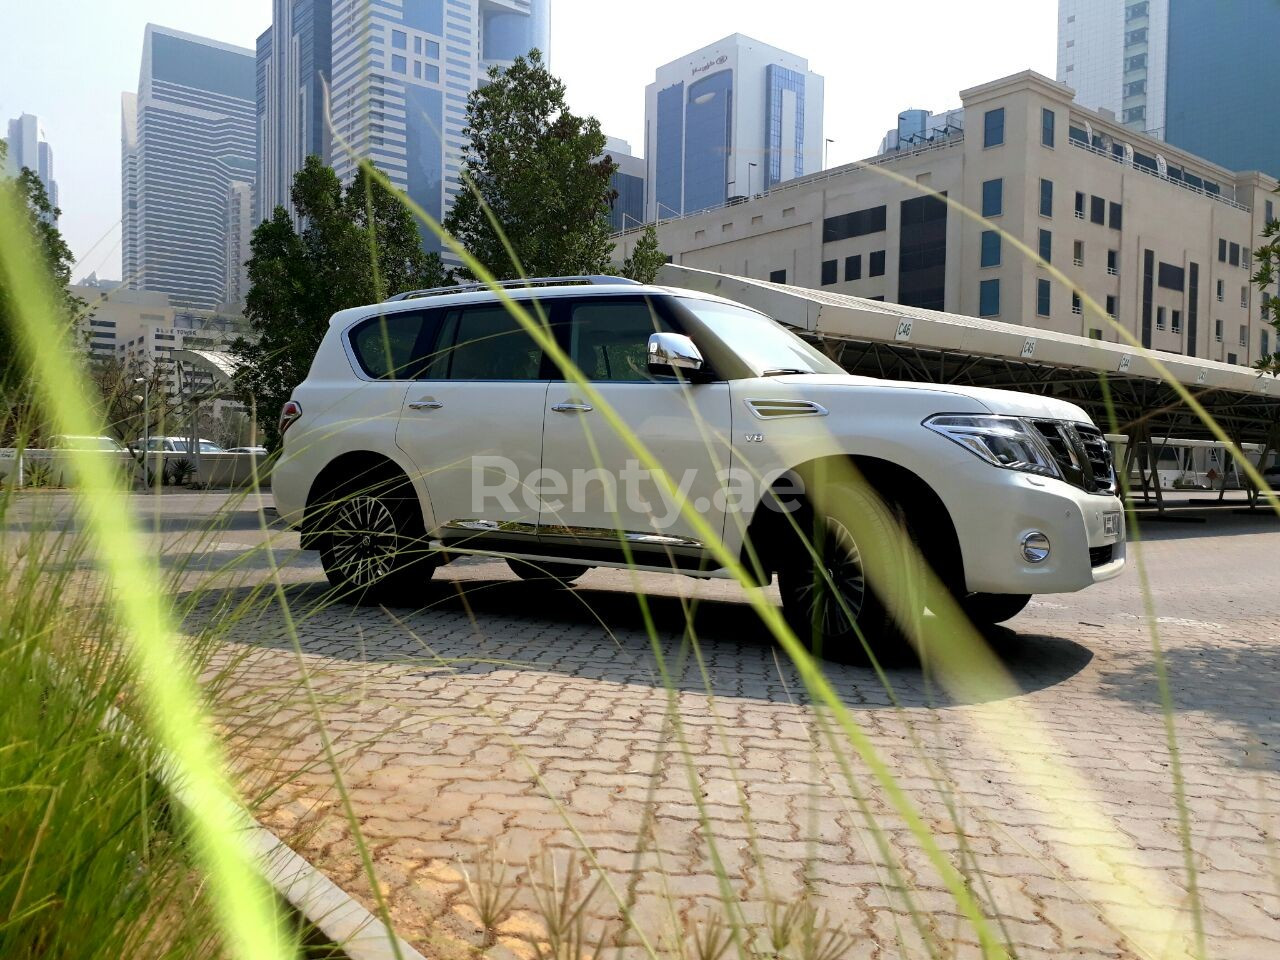
{"type": "Polygon", "coordinates": [[[1132,131],[1280,175],[1277,36],[1274,0],[1059,0],[1057,79],[1132,131]]]}

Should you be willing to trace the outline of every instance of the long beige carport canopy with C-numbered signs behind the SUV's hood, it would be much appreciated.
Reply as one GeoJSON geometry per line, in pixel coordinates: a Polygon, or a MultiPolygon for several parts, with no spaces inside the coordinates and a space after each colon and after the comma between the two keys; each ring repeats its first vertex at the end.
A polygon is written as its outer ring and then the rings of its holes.
{"type": "MultiPolygon", "coordinates": [[[[1170,380],[1258,463],[1280,449],[1280,379],[1251,367],[1094,340],[997,320],[908,307],[667,264],[659,283],[716,293],[795,329],[852,374],[996,387],[1076,403],[1128,438],[1147,495],[1169,438],[1213,439],[1170,380]],[[1164,370],[1161,370],[1161,367],[1164,370]]],[[[1155,485],[1157,500],[1160,486],[1155,485]]]]}

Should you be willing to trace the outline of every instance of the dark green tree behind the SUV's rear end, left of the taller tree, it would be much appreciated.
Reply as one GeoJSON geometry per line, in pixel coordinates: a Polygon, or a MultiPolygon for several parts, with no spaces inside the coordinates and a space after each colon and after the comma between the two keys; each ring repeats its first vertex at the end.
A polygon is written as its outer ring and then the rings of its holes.
{"type": "Polygon", "coordinates": [[[306,376],[333,314],[447,282],[408,207],[367,169],[343,189],[332,168],[308,156],[291,200],[301,233],[283,206],[253,230],[244,315],[255,335],[232,347],[243,364],[239,398],[256,408],[269,445],[279,442],[275,415],[306,376]]]}

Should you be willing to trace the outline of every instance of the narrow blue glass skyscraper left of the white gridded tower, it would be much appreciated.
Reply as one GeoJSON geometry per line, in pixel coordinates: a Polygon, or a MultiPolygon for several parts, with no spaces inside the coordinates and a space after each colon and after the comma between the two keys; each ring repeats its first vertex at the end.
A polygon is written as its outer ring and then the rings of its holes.
{"type": "Polygon", "coordinates": [[[308,155],[329,163],[333,0],[274,0],[257,38],[257,219],[289,205],[308,155]]]}

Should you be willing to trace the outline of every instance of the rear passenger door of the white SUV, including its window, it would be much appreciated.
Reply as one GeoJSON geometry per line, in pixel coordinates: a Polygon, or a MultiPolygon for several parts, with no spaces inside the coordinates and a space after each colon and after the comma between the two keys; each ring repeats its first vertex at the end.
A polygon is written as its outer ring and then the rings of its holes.
{"type": "Polygon", "coordinates": [[[484,547],[532,541],[549,372],[500,303],[448,310],[436,347],[404,396],[396,442],[421,471],[435,535],[484,547]]]}

